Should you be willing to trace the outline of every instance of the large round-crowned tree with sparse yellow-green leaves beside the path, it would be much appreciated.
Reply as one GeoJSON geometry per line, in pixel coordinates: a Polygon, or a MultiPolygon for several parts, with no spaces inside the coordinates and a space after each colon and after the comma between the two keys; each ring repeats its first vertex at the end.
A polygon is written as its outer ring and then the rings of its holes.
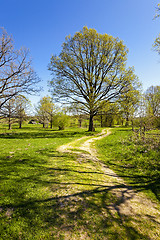
{"type": "Polygon", "coordinates": [[[51,58],[53,97],[81,105],[90,116],[89,131],[102,103],[115,101],[135,79],[134,70],[126,69],[127,52],[118,38],[84,27],[67,37],[60,55],[51,58]]]}

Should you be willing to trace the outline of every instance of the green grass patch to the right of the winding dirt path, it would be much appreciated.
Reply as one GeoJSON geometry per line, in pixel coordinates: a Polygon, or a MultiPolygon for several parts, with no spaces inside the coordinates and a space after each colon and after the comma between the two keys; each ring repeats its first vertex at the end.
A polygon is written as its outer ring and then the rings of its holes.
{"type": "Polygon", "coordinates": [[[130,129],[116,128],[97,142],[101,160],[137,191],[160,201],[160,131],[144,139],[130,129]],[[154,135],[153,135],[154,134],[154,135]]]}

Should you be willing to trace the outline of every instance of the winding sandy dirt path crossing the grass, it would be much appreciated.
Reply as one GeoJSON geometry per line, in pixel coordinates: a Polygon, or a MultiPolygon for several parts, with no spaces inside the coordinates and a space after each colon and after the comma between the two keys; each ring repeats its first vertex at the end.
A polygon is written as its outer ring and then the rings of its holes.
{"type": "Polygon", "coordinates": [[[146,231],[147,225],[150,226],[150,229],[153,230],[148,229],[147,239],[158,240],[160,239],[159,205],[152,202],[144,193],[138,193],[133,190],[132,187],[128,186],[122,178],[117,176],[116,173],[106,167],[105,164],[97,158],[94,142],[108,136],[109,134],[111,134],[110,130],[108,130],[107,133],[103,130],[102,133],[96,137],[89,137],[89,139],[88,137],[83,137],[72,143],[59,147],[58,151],[74,152],[76,145],[76,153],[79,163],[87,158],[94,164],[97,164],[97,166],[100,166],[101,172],[109,176],[108,185],[110,186],[112,194],[117,198],[116,203],[108,206],[113,215],[118,214],[122,218],[122,222],[124,217],[131,217],[133,226],[138,228],[141,233],[146,231]],[[78,152],[78,150],[80,151],[78,152]],[[145,227],[144,223],[146,225],[145,227]]]}

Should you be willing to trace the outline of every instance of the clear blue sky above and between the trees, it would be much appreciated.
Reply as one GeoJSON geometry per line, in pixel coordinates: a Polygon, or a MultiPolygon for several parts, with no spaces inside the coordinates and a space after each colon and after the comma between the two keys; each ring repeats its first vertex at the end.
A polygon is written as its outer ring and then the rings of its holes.
{"type": "MultiPolygon", "coordinates": [[[[47,65],[59,54],[65,37],[83,26],[119,37],[129,48],[128,66],[134,66],[146,90],[160,85],[160,55],[152,50],[160,33],[153,20],[158,0],[0,0],[0,26],[12,34],[16,48],[30,49],[34,69],[47,95],[51,79],[47,65]]],[[[36,102],[40,97],[32,97],[36,102]]]]}

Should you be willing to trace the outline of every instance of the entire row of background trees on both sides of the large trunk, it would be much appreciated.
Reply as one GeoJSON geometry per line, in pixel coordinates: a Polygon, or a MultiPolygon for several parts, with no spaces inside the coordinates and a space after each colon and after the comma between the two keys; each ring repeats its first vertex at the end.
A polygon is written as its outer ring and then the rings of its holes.
{"type": "MultiPolygon", "coordinates": [[[[63,130],[68,126],[88,127],[88,115],[82,114],[79,105],[59,108],[50,96],[43,97],[35,106],[35,114],[30,116],[31,103],[24,96],[17,96],[7,101],[0,109],[0,119],[5,120],[8,129],[13,123],[19,128],[27,121],[42,124],[43,128],[58,127],[63,130]]],[[[94,119],[95,127],[115,125],[132,126],[132,130],[142,132],[160,128],[160,86],[151,86],[145,93],[134,90],[124,94],[114,103],[104,103],[94,119]]]]}

